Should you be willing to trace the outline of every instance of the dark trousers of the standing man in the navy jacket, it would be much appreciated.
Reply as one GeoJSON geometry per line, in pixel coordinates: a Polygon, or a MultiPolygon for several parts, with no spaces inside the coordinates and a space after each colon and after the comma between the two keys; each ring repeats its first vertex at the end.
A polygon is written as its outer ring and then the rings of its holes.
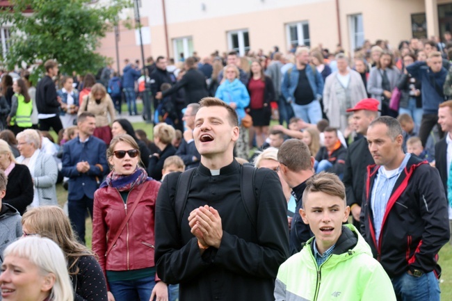
{"type": "Polygon", "coordinates": [[[92,220],[92,199],[83,195],[81,200],[67,200],[67,211],[74,234],[81,243],[85,243],[86,209],[90,211],[92,220]]]}

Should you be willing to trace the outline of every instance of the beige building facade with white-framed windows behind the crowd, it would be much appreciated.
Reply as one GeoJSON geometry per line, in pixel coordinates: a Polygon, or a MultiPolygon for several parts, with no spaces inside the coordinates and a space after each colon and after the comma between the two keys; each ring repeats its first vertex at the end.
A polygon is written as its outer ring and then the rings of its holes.
{"type": "MultiPolygon", "coordinates": [[[[124,13],[133,17],[133,10],[124,13]]],[[[249,49],[264,53],[292,44],[347,51],[364,40],[388,40],[397,47],[412,37],[452,31],[451,0],[142,0],[145,56],[178,60],[213,51],[249,49]],[[164,7],[163,7],[164,6],[164,7]]],[[[120,69],[124,58],[141,57],[138,30],[120,26],[120,69]]],[[[108,33],[99,53],[116,60],[115,34],[108,33]]],[[[113,66],[116,66],[114,64],[113,66]]]]}

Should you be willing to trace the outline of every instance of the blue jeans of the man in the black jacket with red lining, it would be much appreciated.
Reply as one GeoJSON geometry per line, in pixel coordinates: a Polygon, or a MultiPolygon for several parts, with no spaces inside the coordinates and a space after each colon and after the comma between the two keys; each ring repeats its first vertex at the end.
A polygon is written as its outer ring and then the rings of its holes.
{"type": "Polygon", "coordinates": [[[439,301],[441,292],[434,272],[428,272],[421,277],[405,272],[391,280],[398,301],[439,301]]]}

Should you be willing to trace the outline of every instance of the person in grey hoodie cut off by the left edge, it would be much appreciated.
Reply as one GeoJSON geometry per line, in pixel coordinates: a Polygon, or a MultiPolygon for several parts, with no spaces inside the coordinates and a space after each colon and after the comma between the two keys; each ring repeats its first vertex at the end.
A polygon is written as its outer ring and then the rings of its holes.
{"type": "Polygon", "coordinates": [[[1,202],[6,195],[7,184],[8,178],[5,172],[0,170],[0,263],[3,263],[5,248],[22,236],[22,218],[19,211],[13,206],[1,202]]]}

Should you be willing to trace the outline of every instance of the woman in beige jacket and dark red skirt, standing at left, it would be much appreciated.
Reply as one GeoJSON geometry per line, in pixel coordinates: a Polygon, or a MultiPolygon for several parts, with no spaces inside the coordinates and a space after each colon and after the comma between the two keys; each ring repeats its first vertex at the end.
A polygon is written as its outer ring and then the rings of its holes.
{"type": "Polygon", "coordinates": [[[96,129],[93,135],[109,145],[113,138],[110,122],[115,120],[115,106],[102,83],[92,86],[90,94],[83,98],[79,115],[85,111],[93,113],[96,117],[96,129]],[[108,115],[110,115],[110,120],[108,120],[108,115]]]}

